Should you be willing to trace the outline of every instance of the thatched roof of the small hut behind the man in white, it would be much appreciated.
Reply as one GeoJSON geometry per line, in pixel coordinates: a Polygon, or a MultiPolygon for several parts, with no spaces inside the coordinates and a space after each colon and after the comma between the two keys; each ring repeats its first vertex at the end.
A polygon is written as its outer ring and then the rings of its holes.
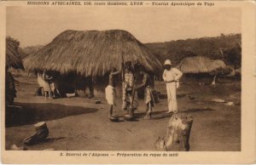
{"type": "Polygon", "coordinates": [[[204,56],[193,56],[183,59],[177,69],[183,73],[207,73],[218,68],[225,68],[222,60],[211,60],[204,56]]]}

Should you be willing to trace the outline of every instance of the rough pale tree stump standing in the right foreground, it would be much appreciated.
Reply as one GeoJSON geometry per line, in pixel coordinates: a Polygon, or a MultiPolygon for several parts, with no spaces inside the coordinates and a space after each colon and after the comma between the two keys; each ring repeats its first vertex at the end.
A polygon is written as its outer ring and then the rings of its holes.
{"type": "Polygon", "coordinates": [[[172,115],[165,138],[154,142],[157,151],[189,151],[189,135],[193,118],[187,115],[172,115]]]}

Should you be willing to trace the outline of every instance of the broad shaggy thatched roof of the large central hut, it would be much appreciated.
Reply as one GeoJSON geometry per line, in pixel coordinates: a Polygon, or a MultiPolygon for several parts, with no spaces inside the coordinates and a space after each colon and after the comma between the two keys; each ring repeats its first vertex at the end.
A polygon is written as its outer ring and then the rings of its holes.
{"type": "Polygon", "coordinates": [[[121,54],[124,60],[137,60],[148,70],[160,70],[156,59],[143,43],[131,33],[111,31],[64,31],[24,60],[26,69],[59,71],[61,74],[76,72],[84,76],[100,77],[113,67],[121,68],[121,54]]]}

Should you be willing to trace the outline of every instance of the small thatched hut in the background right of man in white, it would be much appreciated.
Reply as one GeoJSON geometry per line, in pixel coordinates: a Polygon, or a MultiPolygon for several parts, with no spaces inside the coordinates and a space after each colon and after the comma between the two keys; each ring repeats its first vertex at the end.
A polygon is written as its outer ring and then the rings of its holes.
{"type": "Polygon", "coordinates": [[[193,56],[184,58],[177,66],[187,77],[212,78],[212,71],[225,69],[222,60],[211,60],[205,56],[193,56]]]}

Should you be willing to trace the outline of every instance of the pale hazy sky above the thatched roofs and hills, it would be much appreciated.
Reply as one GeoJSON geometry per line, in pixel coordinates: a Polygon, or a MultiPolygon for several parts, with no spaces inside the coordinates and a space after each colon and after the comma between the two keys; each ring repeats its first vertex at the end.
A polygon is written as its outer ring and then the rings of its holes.
{"type": "Polygon", "coordinates": [[[6,33],[21,48],[45,45],[66,30],[122,29],[142,43],[241,33],[241,10],[232,8],[10,6],[6,18],[6,33]]]}

